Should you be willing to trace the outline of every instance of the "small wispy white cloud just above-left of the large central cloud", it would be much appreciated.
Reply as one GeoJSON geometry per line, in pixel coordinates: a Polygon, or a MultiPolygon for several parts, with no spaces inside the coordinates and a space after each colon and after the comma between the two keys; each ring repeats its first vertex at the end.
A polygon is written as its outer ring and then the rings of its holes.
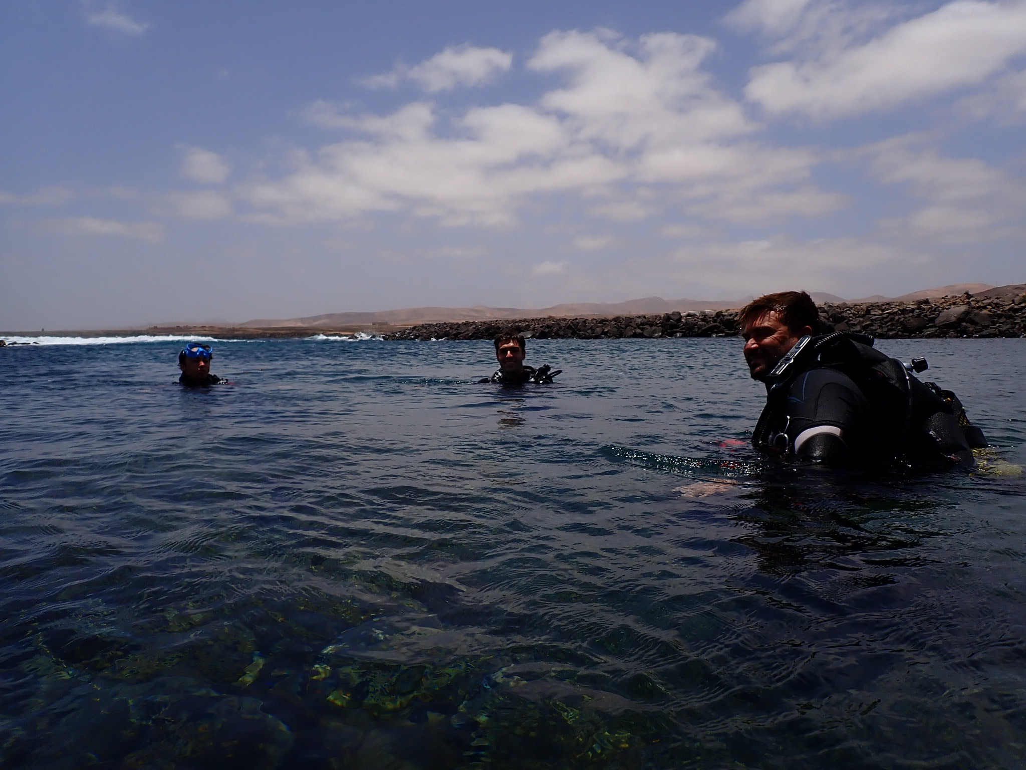
{"type": "Polygon", "coordinates": [[[428,93],[457,86],[481,85],[507,72],[513,54],[499,48],[472,45],[450,46],[413,67],[397,65],[391,72],[363,80],[370,88],[394,88],[403,79],[412,80],[428,93]]]}

